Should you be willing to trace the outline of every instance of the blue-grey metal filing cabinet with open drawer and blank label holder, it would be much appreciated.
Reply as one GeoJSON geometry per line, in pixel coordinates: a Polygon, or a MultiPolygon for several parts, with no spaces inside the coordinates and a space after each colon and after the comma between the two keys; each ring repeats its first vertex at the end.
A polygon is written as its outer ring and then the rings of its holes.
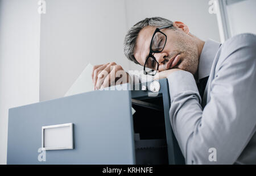
{"type": "Polygon", "coordinates": [[[150,83],[10,108],[7,164],[184,164],[170,124],[167,79],[154,94],[144,90],[150,83]],[[72,133],[43,137],[42,127],[67,123],[72,133]],[[42,143],[70,141],[70,135],[72,148],[46,150],[46,160],[38,160],[42,143]]]}

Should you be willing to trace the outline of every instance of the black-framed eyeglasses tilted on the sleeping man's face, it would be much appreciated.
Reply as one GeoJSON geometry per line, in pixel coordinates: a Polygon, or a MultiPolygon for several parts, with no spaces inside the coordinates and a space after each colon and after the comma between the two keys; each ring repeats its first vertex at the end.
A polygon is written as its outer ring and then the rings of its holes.
{"type": "Polygon", "coordinates": [[[148,74],[151,76],[154,76],[156,74],[159,63],[158,61],[156,61],[156,58],[152,55],[152,53],[160,53],[163,51],[164,46],[166,45],[167,36],[160,30],[162,30],[163,28],[169,28],[172,26],[173,25],[170,24],[168,26],[156,28],[150,43],[150,53],[148,54],[144,64],[144,69],[143,69],[144,74],[148,74]]]}

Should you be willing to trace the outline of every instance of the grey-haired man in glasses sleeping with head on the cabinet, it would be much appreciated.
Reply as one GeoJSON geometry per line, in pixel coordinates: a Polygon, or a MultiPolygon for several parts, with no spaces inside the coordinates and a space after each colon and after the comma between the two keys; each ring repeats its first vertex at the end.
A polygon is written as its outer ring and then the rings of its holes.
{"type": "MultiPolygon", "coordinates": [[[[168,79],[170,121],[186,164],[256,164],[255,35],[220,44],[182,22],[146,18],[127,32],[124,52],[144,74],[168,79]]],[[[118,71],[125,73],[114,62],[94,66],[95,89],[117,81],[118,71]]],[[[134,77],[125,74],[122,82],[134,77]]]]}

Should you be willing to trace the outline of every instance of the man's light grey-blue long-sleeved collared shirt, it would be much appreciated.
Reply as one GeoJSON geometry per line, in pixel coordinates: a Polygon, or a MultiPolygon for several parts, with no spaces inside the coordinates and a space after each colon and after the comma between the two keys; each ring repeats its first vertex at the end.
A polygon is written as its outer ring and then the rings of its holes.
{"type": "Polygon", "coordinates": [[[219,46],[206,41],[200,56],[203,100],[191,73],[168,76],[172,128],[187,164],[256,164],[256,36],[219,46]]]}

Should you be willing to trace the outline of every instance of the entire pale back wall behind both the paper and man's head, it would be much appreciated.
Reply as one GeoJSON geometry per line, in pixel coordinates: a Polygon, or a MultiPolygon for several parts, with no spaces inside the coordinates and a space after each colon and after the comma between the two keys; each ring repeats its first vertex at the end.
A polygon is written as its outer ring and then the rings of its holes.
{"type": "Polygon", "coordinates": [[[51,0],[42,15],[40,101],[63,97],[85,66],[115,61],[142,69],[123,55],[126,31],[146,17],[180,20],[203,40],[219,41],[206,0],[51,0]]]}

